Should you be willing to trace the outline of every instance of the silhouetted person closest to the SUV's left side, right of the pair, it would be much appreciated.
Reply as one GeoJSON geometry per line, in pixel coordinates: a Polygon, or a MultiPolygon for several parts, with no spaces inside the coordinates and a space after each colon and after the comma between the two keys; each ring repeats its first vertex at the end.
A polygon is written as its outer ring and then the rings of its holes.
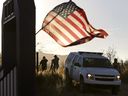
{"type": "Polygon", "coordinates": [[[54,55],[54,59],[52,59],[51,61],[51,67],[49,71],[56,71],[59,68],[59,58],[57,57],[57,55],[54,55]]]}

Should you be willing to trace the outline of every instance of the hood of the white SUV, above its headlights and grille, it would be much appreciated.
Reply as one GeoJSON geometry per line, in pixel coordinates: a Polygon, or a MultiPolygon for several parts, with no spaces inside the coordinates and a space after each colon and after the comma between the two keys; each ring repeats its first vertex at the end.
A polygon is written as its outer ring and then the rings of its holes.
{"type": "Polygon", "coordinates": [[[119,75],[119,72],[114,68],[84,68],[83,71],[98,75],[119,75]]]}

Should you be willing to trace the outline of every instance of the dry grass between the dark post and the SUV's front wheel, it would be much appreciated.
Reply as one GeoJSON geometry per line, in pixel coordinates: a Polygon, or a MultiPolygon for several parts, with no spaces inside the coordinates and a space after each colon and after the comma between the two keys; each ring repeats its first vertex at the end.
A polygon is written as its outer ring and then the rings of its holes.
{"type": "Polygon", "coordinates": [[[36,76],[36,96],[83,96],[78,88],[65,85],[60,73],[44,72],[36,76]]]}

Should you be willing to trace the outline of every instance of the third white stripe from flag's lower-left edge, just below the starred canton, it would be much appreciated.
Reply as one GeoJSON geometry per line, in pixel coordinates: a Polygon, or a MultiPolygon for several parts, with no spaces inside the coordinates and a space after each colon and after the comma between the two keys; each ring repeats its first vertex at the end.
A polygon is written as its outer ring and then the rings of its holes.
{"type": "MultiPolygon", "coordinates": [[[[51,12],[51,15],[52,16],[56,16],[56,13],[54,12],[51,12]]],[[[84,36],[82,34],[80,34],[80,32],[74,27],[72,26],[69,22],[67,22],[64,18],[60,17],[60,16],[57,16],[57,18],[63,22],[69,29],[73,30],[72,32],[74,34],[76,34],[79,38],[83,38],[84,36]]]]}

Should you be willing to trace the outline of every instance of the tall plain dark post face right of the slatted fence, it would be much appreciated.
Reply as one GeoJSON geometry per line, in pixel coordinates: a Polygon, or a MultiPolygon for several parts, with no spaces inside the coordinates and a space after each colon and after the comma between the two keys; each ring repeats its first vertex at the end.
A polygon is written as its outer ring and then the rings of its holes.
{"type": "Polygon", "coordinates": [[[14,0],[17,26],[17,96],[35,96],[34,0],[14,0]]]}

